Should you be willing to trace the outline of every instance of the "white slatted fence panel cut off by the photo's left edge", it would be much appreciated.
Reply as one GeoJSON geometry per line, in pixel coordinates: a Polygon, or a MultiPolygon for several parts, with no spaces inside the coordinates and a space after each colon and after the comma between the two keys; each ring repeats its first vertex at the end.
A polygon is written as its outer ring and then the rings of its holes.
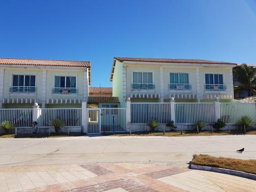
{"type": "Polygon", "coordinates": [[[0,123],[7,120],[16,127],[31,127],[33,109],[0,109],[0,123]]]}

